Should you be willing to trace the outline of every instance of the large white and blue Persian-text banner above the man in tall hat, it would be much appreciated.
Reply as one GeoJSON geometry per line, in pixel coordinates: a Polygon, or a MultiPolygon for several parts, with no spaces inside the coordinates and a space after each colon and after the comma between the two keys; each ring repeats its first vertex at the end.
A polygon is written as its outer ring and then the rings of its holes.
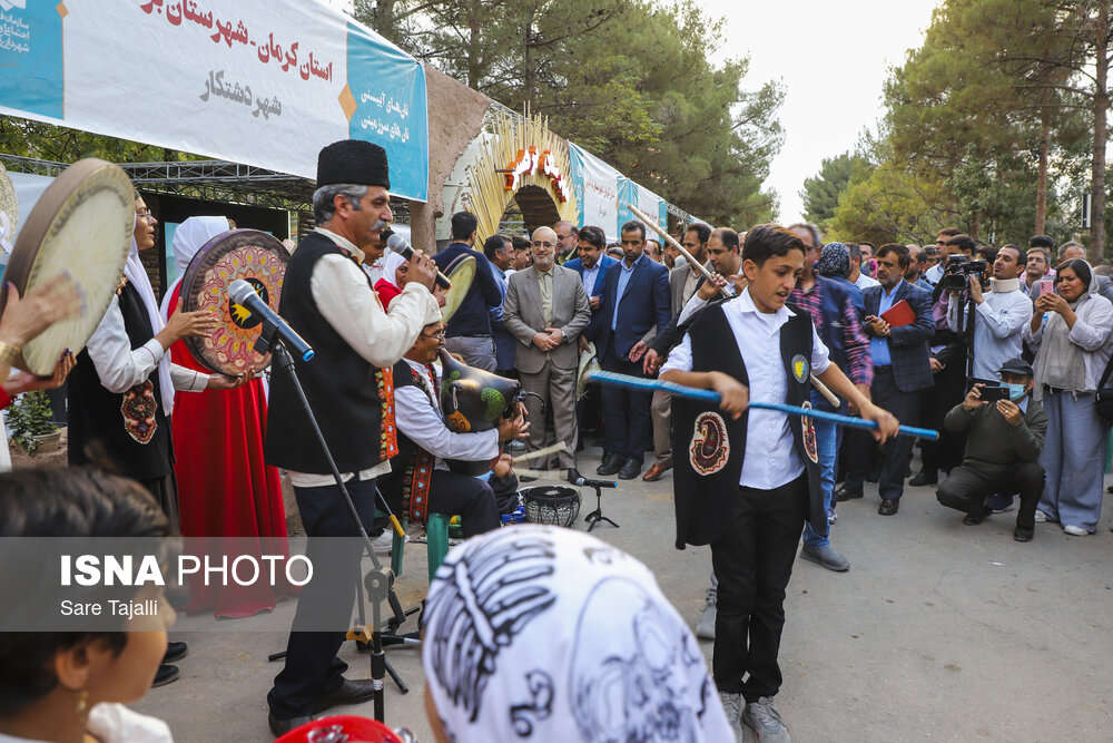
{"type": "Polygon", "coordinates": [[[429,196],[422,66],[308,0],[0,0],[0,113],[308,178],[366,139],[429,196]]]}

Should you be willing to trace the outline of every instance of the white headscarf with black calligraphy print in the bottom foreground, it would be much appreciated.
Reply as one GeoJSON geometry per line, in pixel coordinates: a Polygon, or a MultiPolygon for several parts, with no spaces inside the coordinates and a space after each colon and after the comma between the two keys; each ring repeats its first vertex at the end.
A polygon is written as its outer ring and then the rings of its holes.
{"type": "Polygon", "coordinates": [[[422,665],[455,743],[733,740],[653,574],[571,529],[512,526],[450,551],[422,665]]]}

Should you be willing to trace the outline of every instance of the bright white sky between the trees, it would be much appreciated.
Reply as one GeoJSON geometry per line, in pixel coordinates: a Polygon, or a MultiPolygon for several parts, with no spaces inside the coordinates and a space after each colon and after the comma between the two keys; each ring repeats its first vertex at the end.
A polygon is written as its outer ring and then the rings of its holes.
{"type": "MultiPolygon", "coordinates": [[[[712,61],[749,55],[747,89],[771,79],[785,86],[779,111],[785,144],[765,184],[780,197],[782,224],[800,218],[804,179],[819,172],[823,159],[851,149],[864,127],[876,127],[889,68],[920,46],[939,2],[696,1],[727,20],[726,43],[711,53],[712,61]]],[[[348,0],[324,2],[339,10],[351,6],[348,0]]]]}

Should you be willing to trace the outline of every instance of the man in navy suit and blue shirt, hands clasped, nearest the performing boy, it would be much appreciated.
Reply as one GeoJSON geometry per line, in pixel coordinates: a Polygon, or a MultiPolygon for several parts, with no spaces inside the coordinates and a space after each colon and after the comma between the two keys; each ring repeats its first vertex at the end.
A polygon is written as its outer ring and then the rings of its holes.
{"type": "MultiPolygon", "coordinates": [[[[646,225],[622,225],[623,260],[607,270],[599,312],[588,325],[595,341],[599,363],[607,371],[644,377],[641,358],[650,331],[669,325],[669,270],[644,254],[646,225]]],[[[641,473],[649,441],[650,394],[640,390],[607,387],[603,398],[603,463],[599,475],[618,472],[623,480],[641,473]]]]}

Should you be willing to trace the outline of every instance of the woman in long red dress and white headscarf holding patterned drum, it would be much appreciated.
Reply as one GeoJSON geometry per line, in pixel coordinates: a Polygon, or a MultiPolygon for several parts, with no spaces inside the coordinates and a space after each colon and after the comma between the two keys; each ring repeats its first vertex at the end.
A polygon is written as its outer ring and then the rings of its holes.
{"type": "MultiPolygon", "coordinates": [[[[185,274],[210,239],[228,231],[227,217],[189,217],[174,231],[174,257],[185,274]]],[[[180,283],[167,293],[167,307],[179,306],[180,283]]],[[[175,314],[171,312],[169,320],[175,314]]],[[[174,363],[204,371],[186,346],[170,346],[174,363]]],[[[266,554],[286,551],[286,511],[278,470],[263,459],[267,401],[263,380],[252,379],[224,394],[181,394],[174,416],[174,471],[178,480],[181,535],[185,537],[276,538],[266,554]]],[[[211,610],[217,617],[247,617],[275,607],[278,596],[266,581],[190,580],[187,613],[211,610]]]]}

